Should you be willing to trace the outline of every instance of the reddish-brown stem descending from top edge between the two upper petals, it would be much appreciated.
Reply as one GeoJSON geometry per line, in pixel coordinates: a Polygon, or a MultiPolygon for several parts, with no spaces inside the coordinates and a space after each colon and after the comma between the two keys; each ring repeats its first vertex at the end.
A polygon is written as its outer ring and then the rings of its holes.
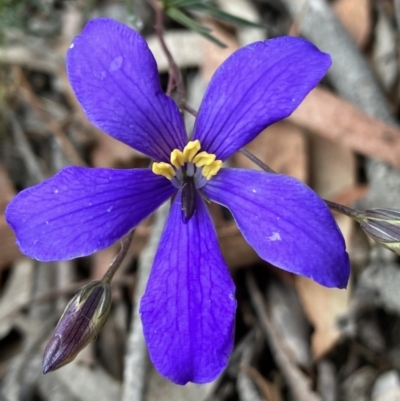
{"type": "Polygon", "coordinates": [[[181,70],[175,63],[174,58],[172,57],[171,52],[168,49],[167,44],[164,40],[164,19],[163,19],[163,9],[161,4],[157,0],[148,0],[150,5],[153,7],[155,16],[156,16],[156,35],[158,40],[160,41],[161,48],[167,57],[168,64],[169,64],[169,74],[170,79],[168,82],[168,90],[167,94],[170,95],[168,92],[172,92],[173,82],[176,83],[176,91],[177,91],[177,103],[180,110],[185,108],[185,86],[183,84],[183,77],[181,70]]]}

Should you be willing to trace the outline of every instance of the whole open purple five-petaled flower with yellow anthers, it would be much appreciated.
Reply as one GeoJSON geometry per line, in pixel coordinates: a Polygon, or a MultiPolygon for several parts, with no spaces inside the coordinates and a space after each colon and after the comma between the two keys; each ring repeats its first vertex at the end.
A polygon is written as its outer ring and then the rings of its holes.
{"type": "Polygon", "coordinates": [[[293,37],[238,50],[210,82],[188,142],[145,40],[112,20],[89,22],[67,55],[76,96],[94,125],[155,163],[133,170],[68,167],[22,191],[6,213],[21,251],[42,261],[89,255],[172,197],[141,301],[144,335],[166,378],[213,380],[232,350],[236,301],[204,199],[231,211],[264,260],[327,287],[346,286],[343,237],[311,189],[284,175],[220,169],[290,115],[330,64],[327,54],[293,37]]]}

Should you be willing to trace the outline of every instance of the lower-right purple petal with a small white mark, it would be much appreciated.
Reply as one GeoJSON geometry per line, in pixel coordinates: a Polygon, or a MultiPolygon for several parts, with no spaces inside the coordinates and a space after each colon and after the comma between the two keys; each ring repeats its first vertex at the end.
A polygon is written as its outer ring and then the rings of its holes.
{"type": "Polygon", "coordinates": [[[343,236],[322,199],[300,181],[223,169],[203,192],[232,212],[264,260],[326,287],[346,287],[350,267],[343,236]]]}

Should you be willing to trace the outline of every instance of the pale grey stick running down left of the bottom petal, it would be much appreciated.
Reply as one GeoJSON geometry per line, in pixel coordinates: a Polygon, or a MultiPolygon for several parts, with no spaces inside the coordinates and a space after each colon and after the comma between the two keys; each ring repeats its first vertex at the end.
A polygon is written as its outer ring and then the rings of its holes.
{"type": "Polygon", "coordinates": [[[160,242],[168,211],[169,203],[167,202],[155,213],[155,222],[149,242],[139,260],[138,278],[133,299],[134,309],[132,312],[131,328],[125,356],[122,401],[142,401],[144,397],[148,355],[143,337],[142,322],[139,315],[139,303],[147,285],[154,255],[160,242]]]}

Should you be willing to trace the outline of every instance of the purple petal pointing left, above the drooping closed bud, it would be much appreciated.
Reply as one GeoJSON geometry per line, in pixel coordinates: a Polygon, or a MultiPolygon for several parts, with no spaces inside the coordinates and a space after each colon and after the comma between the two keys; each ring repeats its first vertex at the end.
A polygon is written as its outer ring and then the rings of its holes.
{"type": "Polygon", "coordinates": [[[113,244],[174,191],[149,169],[68,167],[19,193],[6,219],[21,252],[42,261],[72,259],[113,244]]]}

